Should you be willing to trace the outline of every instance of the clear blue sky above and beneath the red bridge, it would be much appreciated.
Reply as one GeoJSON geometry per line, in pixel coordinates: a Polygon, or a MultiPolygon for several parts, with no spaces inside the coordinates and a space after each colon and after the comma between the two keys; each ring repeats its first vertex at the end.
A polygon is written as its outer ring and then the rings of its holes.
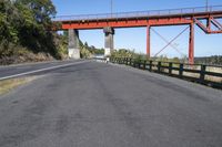
{"type": "MultiPolygon", "coordinates": [[[[222,0],[208,0],[209,6],[222,6],[222,0]]],[[[57,15],[110,13],[111,0],[52,0],[57,8],[57,15]]],[[[113,0],[113,12],[149,11],[178,8],[205,7],[206,0],[113,0]]],[[[222,8],[222,7],[221,7],[222,8]]],[[[222,23],[222,20],[219,20],[222,23]]],[[[151,30],[151,55],[155,55],[167,43],[154,32],[171,41],[186,25],[153,27],[151,30]],[[154,30],[154,31],[153,31],[154,30]]],[[[222,34],[205,34],[195,27],[195,56],[222,55],[222,34]]],[[[104,48],[103,30],[81,30],[80,39],[89,45],[104,48]]],[[[168,46],[160,55],[169,57],[188,56],[189,30],[172,43],[178,50],[168,46]]],[[[115,29],[115,49],[130,49],[138,53],[145,53],[147,29],[128,28],[115,29]]]]}

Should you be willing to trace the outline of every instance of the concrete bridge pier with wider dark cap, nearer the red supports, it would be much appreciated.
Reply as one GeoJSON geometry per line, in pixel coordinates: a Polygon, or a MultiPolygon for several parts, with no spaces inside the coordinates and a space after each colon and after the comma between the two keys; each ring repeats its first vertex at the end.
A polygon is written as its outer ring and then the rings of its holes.
{"type": "Polygon", "coordinates": [[[113,40],[113,35],[114,35],[114,29],[113,28],[104,28],[104,55],[109,56],[111,55],[111,52],[114,49],[114,40],[113,40]]]}

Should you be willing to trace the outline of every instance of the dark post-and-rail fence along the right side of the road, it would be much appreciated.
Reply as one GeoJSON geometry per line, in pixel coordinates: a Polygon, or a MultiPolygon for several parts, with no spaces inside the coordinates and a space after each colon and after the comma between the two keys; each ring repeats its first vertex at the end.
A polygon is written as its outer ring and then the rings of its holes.
{"type": "Polygon", "coordinates": [[[110,59],[110,61],[112,63],[125,64],[222,90],[222,66],[134,60],[128,57],[114,57],[110,59]]]}

